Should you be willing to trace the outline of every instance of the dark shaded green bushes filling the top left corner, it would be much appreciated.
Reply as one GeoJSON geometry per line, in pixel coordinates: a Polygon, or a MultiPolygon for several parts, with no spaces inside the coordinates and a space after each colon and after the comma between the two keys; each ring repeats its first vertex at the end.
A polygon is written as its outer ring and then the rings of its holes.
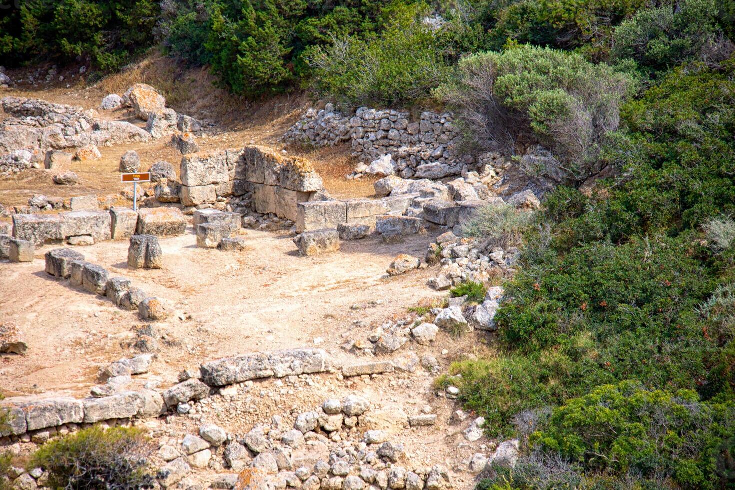
{"type": "Polygon", "coordinates": [[[9,9],[0,19],[4,62],[82,57],[101,71],[121,68],[151,46],[159,16],[154,0],[30,0],[9,9]]]}

